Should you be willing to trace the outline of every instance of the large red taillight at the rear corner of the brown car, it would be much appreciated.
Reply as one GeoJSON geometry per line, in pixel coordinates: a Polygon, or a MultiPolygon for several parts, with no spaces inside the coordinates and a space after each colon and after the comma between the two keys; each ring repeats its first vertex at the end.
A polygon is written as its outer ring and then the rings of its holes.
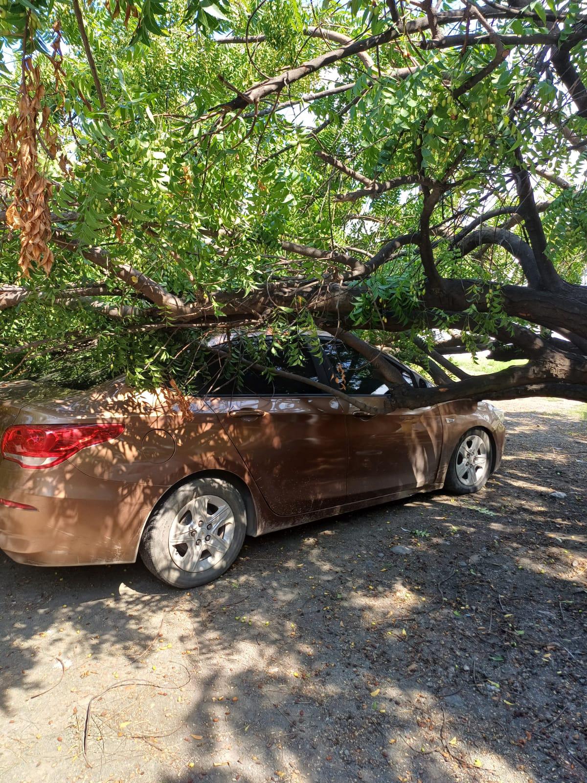
{"type": "Polygon", "coordinates": [[[0,451],[5,460],[38,470],[53,467],[70,456],[117,438],[124,424],[13,424],[2,436],[0,451]]]}

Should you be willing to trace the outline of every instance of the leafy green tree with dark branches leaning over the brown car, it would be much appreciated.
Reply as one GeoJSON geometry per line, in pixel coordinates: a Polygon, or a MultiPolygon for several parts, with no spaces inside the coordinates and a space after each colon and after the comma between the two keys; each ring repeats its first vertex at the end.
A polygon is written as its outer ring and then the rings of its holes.
{"type": "Polygon", "coordinates": [[[0,41],[0,379],[328,327],[441,384],[391,404],[587,399],[584,2],[0,0],[0,41]],[[528,362],[442,359],[488,345],[528,362]]]}

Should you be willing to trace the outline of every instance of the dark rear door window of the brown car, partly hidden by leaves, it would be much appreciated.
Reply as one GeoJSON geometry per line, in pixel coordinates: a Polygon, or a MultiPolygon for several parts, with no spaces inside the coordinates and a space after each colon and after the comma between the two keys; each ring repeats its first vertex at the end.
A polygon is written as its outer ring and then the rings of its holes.
{"type": "MultiPolygon", "coordinates": [[[[285,370],[289,373],[301,375],[312,381],[318,381],[318,373],[312,356],[307,351],[301,352],[301,364],[290,364],[285,352],[272,351],[271,338],[267,340],[267,352],[262,359],[257,359],[260,364],[268,366],[272,370],[285,370]]],[[[220,345],[219,348],[222,348],[220,345]]],[[[250,366],[256,357],[248,355],[246,350],[239,351],[239,345],[232,345],[232,362],[211,352],[205,366],[198,371],[193,381],[189,384],[189,394],[196,396],[234,397],[239,395],[254,396],[308,396],[321,392],[303,381],[284,378],[279,375],[268,377],[266,373],[250,366]]]]}

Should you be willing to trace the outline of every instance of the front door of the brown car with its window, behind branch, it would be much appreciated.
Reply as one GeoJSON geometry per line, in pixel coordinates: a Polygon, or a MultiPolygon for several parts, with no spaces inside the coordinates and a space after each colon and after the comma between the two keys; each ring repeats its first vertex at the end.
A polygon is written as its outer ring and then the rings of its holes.
{"type": "MultiPolygon", "coordinates": [[[[389,387],[373,366],[344,343],[322,344],[333,383],[347,395],[367,402],[380,413],[364,413],[343,403],[348,433],[349,500],[383,496],[434,483],[442,443],[436,406],[417,410],[385,410],[389,387]]],[[[398,363],[406,383],[415,376],[398,363]]]]}

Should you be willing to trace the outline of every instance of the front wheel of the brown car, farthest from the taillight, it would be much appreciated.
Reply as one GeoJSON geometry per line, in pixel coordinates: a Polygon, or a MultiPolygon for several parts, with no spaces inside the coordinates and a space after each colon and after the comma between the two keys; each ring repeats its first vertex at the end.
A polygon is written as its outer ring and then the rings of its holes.
{"type": "Polygon", "coordinates": [[[445,489],[456,495],[478,492],[492,474],[493,446],[488,433],[469,430],[459,440],[446,471],[445,489]]]}

